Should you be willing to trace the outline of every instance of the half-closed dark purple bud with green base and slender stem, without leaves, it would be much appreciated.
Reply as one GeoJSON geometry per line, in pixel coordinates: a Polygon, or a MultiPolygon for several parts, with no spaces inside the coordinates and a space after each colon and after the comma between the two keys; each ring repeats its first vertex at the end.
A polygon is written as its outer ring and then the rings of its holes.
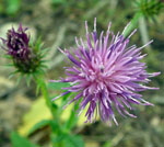
{"type": "Polygon", "coordinates": [[[36,82],[36,92],[42,91],[46,104],[54,116],[54,106],[45,83],[45,53],[47,49],[43,48],[40,39],[32,42],[26,31],[27,27],[23,27],[20,24],[17,30],[12,27],[8,31],[7,38],[1,38],[3,43],[2,48],[7,52],[4,57],[11,59],[12,64],[9,65],[15,68],[15,71],[11,72],[11,76],[17,74],[19,81],[24,77],[27,84],[30,84],[32,79],[36,82]]]}

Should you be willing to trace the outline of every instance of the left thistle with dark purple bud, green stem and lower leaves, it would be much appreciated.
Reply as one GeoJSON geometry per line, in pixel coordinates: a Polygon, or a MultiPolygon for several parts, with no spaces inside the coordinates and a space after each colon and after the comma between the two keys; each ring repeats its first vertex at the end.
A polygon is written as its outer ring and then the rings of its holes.
{"type": "MultiPolygon", "coordinates": [[[[43,44],[40,39],[36,42],[32,42],[31,37],[26,33],[27,29],[23,27],[22,24],[19,25],[19,29],[15,30],[12,27],[7,33],[7,38],[1,38],[2,46],[1,48],[5,50],[5,56],[9,58],[9,60],[12,63],[10,66],[13,66],[15,68],[15,71],[13,71],[11,75],[19,75],[21,78],[25,78],[27,80],[27,83],[30,84],[30,80],[34,80],[36,82],[37,89],[36,92],[40,91],[43,94],[43,98],[45,99],[45,102],[51,113],[51,117],[49,120],[44,120],[43,122],[47,123],[47,125],[51,128],[51,138],[52,142],[55,139],[59,139],[59,142],[52,143],[56,147],[61,147],[65,142],[60,140],[60,137],[65,136],[68,142],[72,142],[72,139],[77,139],[77,142],[81,142],[81,138],[77,138],[77,136],[73,136],[72,134],[69,134],[69,129],[71,129],[74,125],[74,120],[77,120],[74,116],[74,112],[70,114],[70,117],[68,118],[68,122],[61,127],[60,122],[60,115],[58,105],[51,102],[48,93],[48,86],[45,80],[45,56],[47,49],[43,48],[43,44]],[[72,124],[69,124],[70,122],[73,122],[72,124]]],[[[20,80],[19,80],[20,81],[20,80]]],[[[75,109],[77,106],[74,106],[75,109]]],[[[39,113],[39,112],[38,112],[39,113]]],[[[36,126],[40,127],[42,121],[38,122],[38,124],[35,124],[36,126]]],[[[38,128],[39,128],[38,127],[38,128]]],[[[33,128],[32,128],[33,129],[33,128]]],[[[34,131],[34,129],[33,129],[34,131]]],[[[16,135],[16,134],[15,134],[16,135]]]]}

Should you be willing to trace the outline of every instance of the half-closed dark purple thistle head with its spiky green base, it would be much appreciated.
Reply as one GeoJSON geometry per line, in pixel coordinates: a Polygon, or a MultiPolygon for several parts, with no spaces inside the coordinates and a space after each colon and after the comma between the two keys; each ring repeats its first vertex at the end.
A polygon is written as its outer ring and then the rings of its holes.
{"type": "Polygon", "coordinates": [[[22,75],[43,72],[45,67],[43,61],[45,55],[40,50],[43,44],[40,42],[30,44],[30,36],[26,31],[27,27],[23,27],[22,24],[19,25],[17,30],[14,27],[9,30],[7,38],[1,38],[2,48],[12,59],[13,66],[16,68],[14,72],[22,75]]]}

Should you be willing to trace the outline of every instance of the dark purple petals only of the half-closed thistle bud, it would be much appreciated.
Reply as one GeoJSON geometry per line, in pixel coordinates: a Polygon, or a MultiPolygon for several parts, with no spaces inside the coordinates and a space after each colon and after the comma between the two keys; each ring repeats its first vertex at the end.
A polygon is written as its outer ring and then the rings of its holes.
{"type": "Polygon", "coordinates": [[[8,31],[7,39],[3,39],[3,44],[5,45],[4,49],[9,55],[16,59],[27,59],[30,55],[30,37],[25,33],[27,29],[23,29],[20,24],[17,31],[13,27],[8,31]]]}

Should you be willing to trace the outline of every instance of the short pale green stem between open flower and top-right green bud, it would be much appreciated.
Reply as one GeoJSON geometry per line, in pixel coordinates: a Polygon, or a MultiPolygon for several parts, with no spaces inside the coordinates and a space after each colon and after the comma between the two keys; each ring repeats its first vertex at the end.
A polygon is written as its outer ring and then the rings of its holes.
{"type": "Polygon", "coordinates": [[[139,19],[140,19],[141,16],[143,16],[143,14],[140,13],[140,12],[138,12],[138,13],[134,14],[134,16],[133,16],[133,19],[131,20],[129,26],[128,26],[128,27],[125,30],[125,32],[122,33],[122,35],[124,35],[125,37],[127,37],[127,36],[131,33],[131,31],[134,30],[134,27],[137,27],[138,22],[139,22],[139,19]]]}

